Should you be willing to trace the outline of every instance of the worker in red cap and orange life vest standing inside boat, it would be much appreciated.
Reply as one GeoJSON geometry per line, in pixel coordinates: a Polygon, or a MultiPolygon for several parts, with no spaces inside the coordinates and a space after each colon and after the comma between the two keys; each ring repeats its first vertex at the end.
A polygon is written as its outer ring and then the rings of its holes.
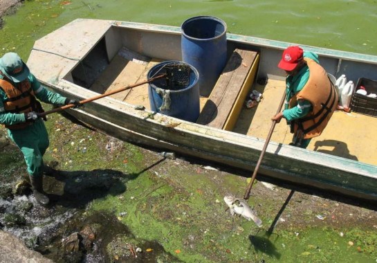
{"type": "Polygon", "coordinates": [[[304,52],[300,46],[286,48],[277,66],[286,71],[286,101],[284,110],[272,120],[279,123],[285,118],[293,133],[291,145],[306,148],[329,122],[338,94],[318,55],[304,52]]]}

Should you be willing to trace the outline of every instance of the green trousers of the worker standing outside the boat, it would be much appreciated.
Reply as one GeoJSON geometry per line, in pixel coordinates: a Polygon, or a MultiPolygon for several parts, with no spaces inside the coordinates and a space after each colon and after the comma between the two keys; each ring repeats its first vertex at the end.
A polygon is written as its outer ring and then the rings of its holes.
{"type": "Polygon", "coordinates": [[[35,177],[42,176],[43,156],[49,144],[44,121],[39,118],[33,125],[24,129],[8,129],[8,135],[24,154],[28,174],[35,177]]]}

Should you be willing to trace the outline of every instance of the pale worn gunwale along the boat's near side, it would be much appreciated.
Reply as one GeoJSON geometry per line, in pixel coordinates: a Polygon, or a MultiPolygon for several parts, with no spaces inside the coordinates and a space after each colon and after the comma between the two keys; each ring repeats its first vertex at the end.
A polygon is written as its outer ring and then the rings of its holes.
{"type": "MultiPolygon", "coordinates": [[[[69,89],[80,89],[84,93],[93,93],[93,96],[98,95],[95,91],[90,91],[84,87],[77,84],[73,84],[68,80],[60,80],[57,84],[44,82],[41,83],[52,89],[64,89],[65,92],[71,93],[72,96],[77,96],[77,91],[69,89]]],[[[90,98],[89,96],[87,98],[90,98]]],[[[83,99],[87,99],[83,98],[83,99]]],[[[113,110],[120,111],[122,114],[127,114],[134,118],[139,118],[140,120],[147,120],[148,122],[154,123],[154,125],[160,125],[161,127],[166,127],[164,125],[164,120],[172,120],[172,123],[180,123],[178,126],[172,128],[176,131],[185,132],[187,134],[192,134],[192,136],[201,136],[211,140],[222,141],[230,143],[232,145],[238,145],[240,147],[245,147],[247,149],[252,149],[255,151],[261,151],[266,141],[264,138],[257,138],[255,136],[248,136],[246,134],[238,134],[234,131],[226,131],[223,129],[217,129],[214,127],[209,127],[206,125],[200,125],[197,123],[190,123],[186,120],[181,120],[174,118],[172,116],[167,116],[164,114],[156,113],[150,110],[136,110],[135,105],[131,105],[128,102],[123,102],[116,100],[114,98],[105,97],[102,98],[103,101],[111,101],[114,107],[113,110]],[[125,109],[124,109],[125,108],[125,109]],[[154,115],[154,119],[147,118],[149,114],[154,115]]],[[[92,102],[104,104],[104,102],[92,102]]],[[[104,107],[107,107],[104,105],[104,107]]],[[[71,109],[70,109],[71,110],[71,109]]],[[[75,110],[75,109],[72,109],[75,110]]],[[[100,118],[100,116],[98,116],[100,118]]],[[[377,165],[371,165],[369,163],[362,163],[360,161],[351,160],[348,158],[343,158],[340,156],[334,156],[331,154],[326,154],[322,152],[315,152],[309,149],[302,149],[293,147],[291,145],[284,145],[282,143],[277,143],[271,141],[268,144],[267,153],[270,155],[280,156],[282,158],[287,158],[295,161],[303,161],[305,163],[320,164],[322,167],[327,167],[329,169],[341,170],[343,172],[350,172],[354,174],[359,174],[362,176],[368,176],[370,178],[377,179],[377,165]]]]}

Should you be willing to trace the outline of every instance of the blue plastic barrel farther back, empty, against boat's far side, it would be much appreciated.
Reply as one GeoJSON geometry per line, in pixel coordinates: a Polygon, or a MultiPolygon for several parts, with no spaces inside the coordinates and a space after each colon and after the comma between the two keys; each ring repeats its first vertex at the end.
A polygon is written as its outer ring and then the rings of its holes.
{"type": "Polygon", "coordinates": [[[208,97],[226,65],[226,23],[217,17],[192,17],[181,30],[182,60],[199,71],[200,95],[208,97]]]}

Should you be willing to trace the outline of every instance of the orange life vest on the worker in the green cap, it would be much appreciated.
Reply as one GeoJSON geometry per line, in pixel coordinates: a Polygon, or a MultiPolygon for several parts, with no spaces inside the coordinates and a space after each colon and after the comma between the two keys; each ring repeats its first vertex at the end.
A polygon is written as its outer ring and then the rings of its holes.
{"type": "MultiPolygon", "coordinates": [[[[15,87],[7,80],[0,79],[0,87],[8,97],[6,101],[3,102],[6,112],[22,114],[34,110],[35,96],[28,80],[19,82],[17,87],[15,87]]],[[[32,123],[17,123],[15,125],[4,126],[8,129],[23,129],[29,125],[32,125],[32,123]]]]}

